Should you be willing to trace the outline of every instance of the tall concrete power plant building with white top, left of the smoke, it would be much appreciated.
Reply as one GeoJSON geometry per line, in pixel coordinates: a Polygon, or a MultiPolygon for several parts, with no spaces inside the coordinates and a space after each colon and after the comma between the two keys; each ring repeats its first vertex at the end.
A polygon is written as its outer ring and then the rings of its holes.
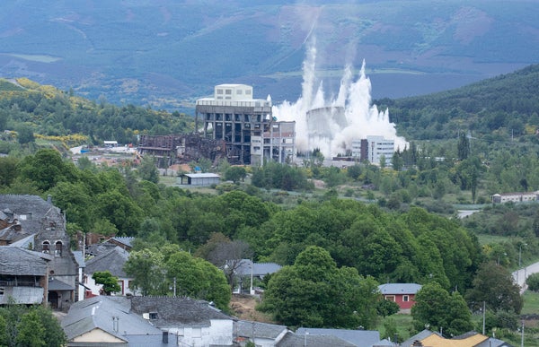
{"type": "Polygon", "coordinates": [[[199,132],[200,117],[203,136],[224,141],[232,164],[293,160],[296,122],[278,122],[272,117],[271,100],[253,99],[252,94],[250,85],[216,85],[213,98],[197,100],[195,131],[199,132]]]}

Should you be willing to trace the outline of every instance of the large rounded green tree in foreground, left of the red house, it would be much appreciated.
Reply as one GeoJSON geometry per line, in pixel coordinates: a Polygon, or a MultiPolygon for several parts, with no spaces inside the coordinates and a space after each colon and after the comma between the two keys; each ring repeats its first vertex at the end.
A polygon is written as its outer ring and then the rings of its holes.
{"type": "Polygon", "coordinates": [[[271,276],[262,309],[288,326],[372,328],[378,299],[374,279],[338,268],[321,247],[307,247],[271,276]]]}

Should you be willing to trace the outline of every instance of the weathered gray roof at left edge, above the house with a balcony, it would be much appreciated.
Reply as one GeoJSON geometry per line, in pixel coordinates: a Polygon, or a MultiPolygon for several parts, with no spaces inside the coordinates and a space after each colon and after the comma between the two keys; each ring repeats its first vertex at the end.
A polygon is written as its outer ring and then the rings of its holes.
{"type": "Polygon", "coordinates": [[[0,247],[0,273],[45,276],[52,256],[19,247],[0,247]]]}

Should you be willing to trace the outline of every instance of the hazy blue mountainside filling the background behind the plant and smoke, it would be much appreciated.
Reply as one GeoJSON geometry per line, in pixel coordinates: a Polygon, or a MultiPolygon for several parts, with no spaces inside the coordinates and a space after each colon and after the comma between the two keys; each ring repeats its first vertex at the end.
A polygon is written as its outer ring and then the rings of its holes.
{"type": "Polygon", "coordinates": [[[376,98],[443,91],[539,56],[529,1],[324,3],[5,0],[0,76],[182,110],[222,82],[296,100],[309,39],[326,85],[338,88],[334,72],[366,59],[376,98]]]}

